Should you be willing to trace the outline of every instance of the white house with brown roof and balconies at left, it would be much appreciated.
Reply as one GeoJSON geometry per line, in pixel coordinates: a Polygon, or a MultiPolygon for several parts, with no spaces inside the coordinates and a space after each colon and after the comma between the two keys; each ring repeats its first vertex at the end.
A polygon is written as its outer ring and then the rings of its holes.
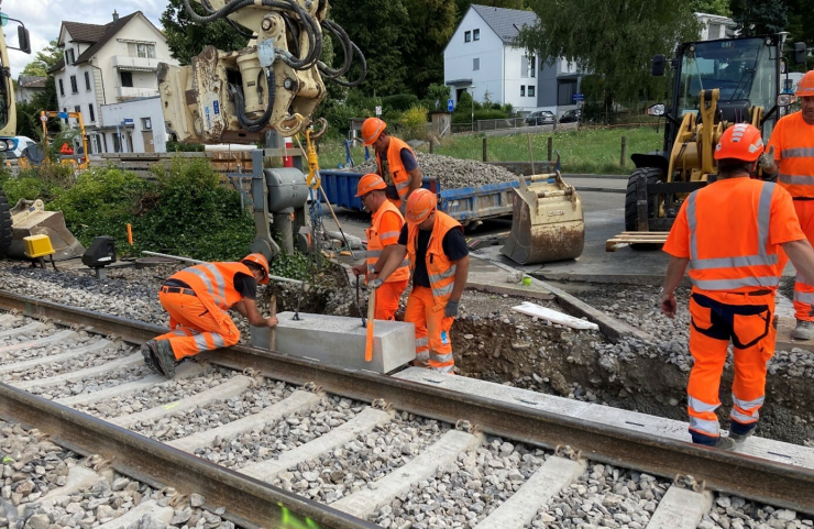
{"type": "MultiPolygon", "coordinates": [[[[59,101],[59,108],[53,110],[81,112],[91,154],[131,152],[131,143],[133,147],[142,145],[135,137],[114,143],[111,134],[120,123],[106,122],[101,107],[158,95],[158,63],[177,64],[162,32],[141,11],[121,18],[113,11],[113,20],[105,25],[64,21],[57,45],[63,58],[48,70],[59,101]]],[[[151,115],[147,112],[133,119],[151,115]]],[[[153,123],[163,134],[163,119],[151,119],[153,123]]]]}

